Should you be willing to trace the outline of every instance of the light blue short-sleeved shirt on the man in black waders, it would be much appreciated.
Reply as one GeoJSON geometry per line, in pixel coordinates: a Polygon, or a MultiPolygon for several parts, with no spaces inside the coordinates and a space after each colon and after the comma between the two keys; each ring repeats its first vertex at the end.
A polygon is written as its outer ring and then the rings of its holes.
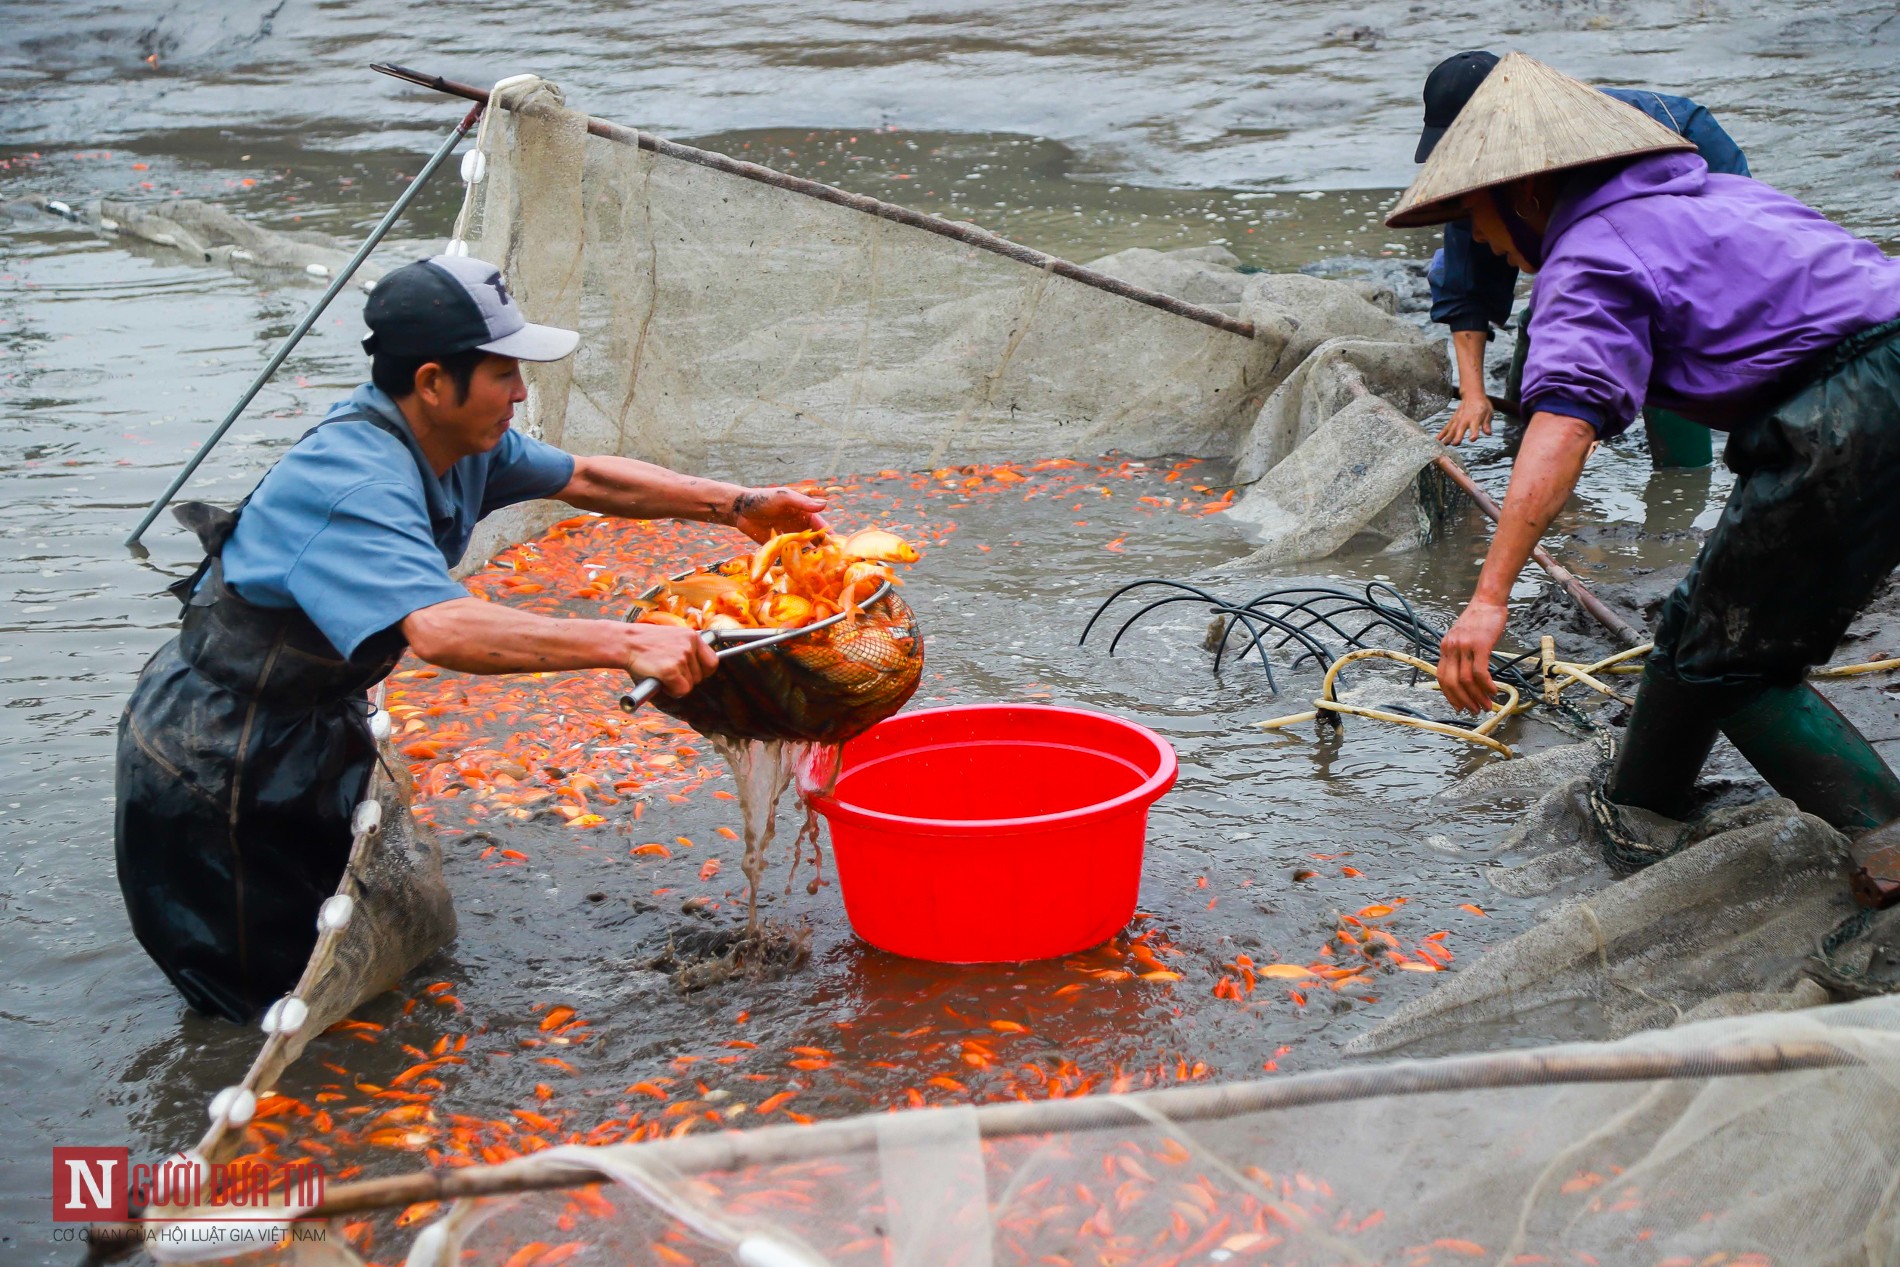
{"type": "Polygon", "coordinates": [[[258,606],[302,608],[352,655],[410,612],[466,598],[448,568],[462,562],[475,524],[566,488],[574,458],[509,429],[437,477],[374,384],[325,418],[346,410],[395,422],[401,439],[369,422],[331,422],[298,441],[243,507],[224,545],[224,581],[258,606]]]}

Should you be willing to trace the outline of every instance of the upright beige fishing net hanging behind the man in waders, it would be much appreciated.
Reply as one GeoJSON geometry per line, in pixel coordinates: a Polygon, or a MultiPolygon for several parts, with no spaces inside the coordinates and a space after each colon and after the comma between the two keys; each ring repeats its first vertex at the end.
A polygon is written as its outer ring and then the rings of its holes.
{"type": "MultiPolygon", "coordinates": [[[[589,120],[532,76],[496,103],[456,234],[536,321],[581,331],[530,369],[526,425],[564,448],[754,482],[1123,450],[1233,458],[1250,482],[1320,437],[1309,467],[1379,469],[1309,498],[1328,528],[1302,547],[1381,517],[1419,539],[1433,443],[1322,435],[1357,399],[1336,363],[1400,414],[1446,399],[1442,346],[1376,287],[1248,275],[1220,249],[1083,268],[589,120]]],[[[551,513],[496,517],[471,558],[551,513]]]]}

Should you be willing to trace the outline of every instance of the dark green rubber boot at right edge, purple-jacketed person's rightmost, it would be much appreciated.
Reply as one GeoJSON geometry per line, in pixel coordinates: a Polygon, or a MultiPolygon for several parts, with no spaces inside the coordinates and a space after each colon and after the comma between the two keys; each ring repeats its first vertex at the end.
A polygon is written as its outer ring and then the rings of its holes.
{"type": "Polygon", "coordinates": [[[1843,834],[1900,819],[1900,779],[1807,682],[1769,688],[1721,729],[1771,788],[1843,834]]]}

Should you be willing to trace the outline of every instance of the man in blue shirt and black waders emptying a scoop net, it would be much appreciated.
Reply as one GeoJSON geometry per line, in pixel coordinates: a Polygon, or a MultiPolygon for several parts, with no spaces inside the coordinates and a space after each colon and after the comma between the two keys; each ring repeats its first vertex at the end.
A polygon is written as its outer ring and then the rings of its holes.
{"type": "Polygon", "coordinates": [[[477,520],[557,498],[766,539],[825,503],[509,427],[521,361],[580,334],[530,325],[492,264],[437,256],[365,308],[370,382],[232,511],[179,519],[205,562],[173,587],[179,636],[139,674],[118,745],[116,853],[133,933],[196,1011],[249,1020],[296,984],[350,855],[374,762],[365,690],[412,650],[464,672],[625,669],[684,695],[716,669],[688,629],[483,602],[448,570],[477,520]]]}

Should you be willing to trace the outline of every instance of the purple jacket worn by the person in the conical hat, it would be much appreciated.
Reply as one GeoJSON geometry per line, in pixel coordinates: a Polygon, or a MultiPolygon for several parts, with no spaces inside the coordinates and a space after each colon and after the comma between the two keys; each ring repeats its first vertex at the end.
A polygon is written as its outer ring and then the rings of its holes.
{"type": "Polygon", "coordinates": [[[1727,431],[1849,334],[1900,317],[1900,260],[1695,154],[1638,158],[1558,199],[1531,289],[1526,418],[1611,437],[1644,405],[1727,431]]]}

